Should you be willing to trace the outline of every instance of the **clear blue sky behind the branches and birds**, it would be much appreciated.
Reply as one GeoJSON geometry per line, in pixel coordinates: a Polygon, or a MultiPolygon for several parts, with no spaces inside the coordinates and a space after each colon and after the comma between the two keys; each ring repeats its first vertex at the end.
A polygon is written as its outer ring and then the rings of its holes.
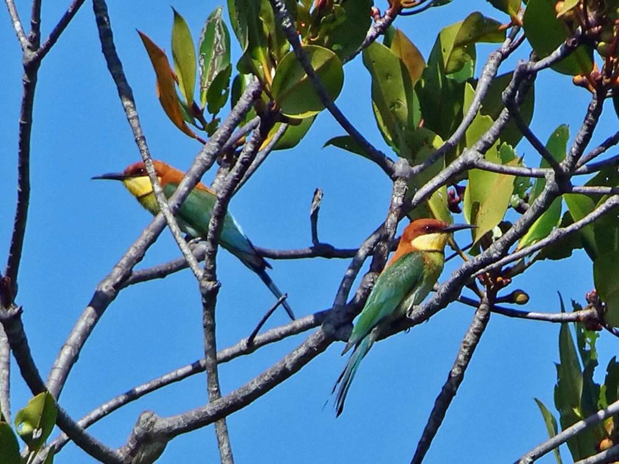
{"type": "MultiPolygon", "coordinates": [[[[18,2],[28,23],[28,2],[18,2]]],[[[43,34],[62,13],[59,3],[43,2],[43,34]]],[[[175,1],[197,39],[204,20],[219,2],[175,1]]],[[[378,4],[381,10],[386,2],[378,4]]],[[[111,25],[150,152],[155,158],[186,169],[200,146],[171,125],[154,91],[154,72],[136,28],[170,49],[172,12],[167,2],[111,2],[111,25]]],[[[505,20],[487,2],[454,2],[415,17],[400,17],[402,28],[427,58],[441,27],[473,9],[505,20]]],[[[6,10],[0,14],[0,256],[6,256],[15,205],[17,120],[21,96],[21,54],[6,10]]],[[[494,45],[478,46],[477,71],[494,45]]],[[[233,60],[238,59],[238,48],[233,60]]],[[[504,63],[527,58],[524,45],[504,63]]],[[[552,71],[536,82],[532,128],[539,138],[561,123],[572,136],[584,116],[588,93],[552,71]]],[[[338,105],[377,147],[387,150],[371,113],[370,79],[360,59],[345,66],[338,105]]],[[[616,129],[617,117],[607,105],[593,143],[616,129]]],[[[254,244],[279,249],[308,246],[309,204],[316,187],[324,191],[319,219],[322,241],[338,247],[358,246],[384,220],[391,183],[368,160],[324,142],[344,131],[327,113],[320,114],[305,139],[293,150],[272,153],[251,181],[232,200],[230,209],[254,244]]],[[[530,166],[539,155],[517,147],[530,166]]],[[[94,182],[93,175],[122,170],[139,159],[116,89],[100,53],[92,6],[82,7],[39,73],[32,135],[32,197],[17,303],[33,356],[45,377],[66,336],[102,280],[150,221],[150,215],[119,184],[94,182]]],[[[205,181],[212,179],[207,173],[205,181]]],[[[404,226],[402,224],[401,226],[404,226]]],[[[458,237],[458,236],[457,236],[458,237]]],[[[460,233],[459,242],[467,242],[460,233]]],[[[151,247],[138,268],[179,255],[168,231],[151,247]]],[[[248,269],[225,251],[218,255],[222,281],[217,306],[220,348],[246,337],[271,306],[271,293],[248,269]]],[[[291,306],[304,316],[331,306],[347,260],[271,260],[272,278],[288,293],[291,306]]],[[[449,265],[444,280],[453,267],[449,265]]],[[[526,309],[556,312],[556,292],[566,301],[584,301],[591,290],[591,264],[584,252],[556,265],[541,262],[519,277],[531,299],[526,309]]],[[[135,385],[203,356],[202,308],[196,281],[184,271],[165,280],[132,286],[108,307],[80,354],[61,396],[74,417],[135,385]]],[[[451,368],[473,310],[451,304],[426,324],[376,344],[335,419],[332,385],[345,364],[334,343],[298,374],[228,418],[237,462],[409,462],[431,407],[451,368]]],[[[267,327],[285,324],[277,311],[267,327]]],[[[553,408],[559,326],[493,315],[464,383],[451,405],[426,463],[513,462],[546,437],[533,397],[553,408]]],[[[309,333],[261,348],[251,356],[220,366],[225,394],[264,371],[299,345],[309,333]]],[[[605,367],[617,340],[602,333],[598,342],[605,367]]],[[[12,366],[13,413],[30,392],[12,366]]],[[[599,368],[600,371],[604,369],[599,368]]],[[[600,372],[601,374],[601,372],[600,372]]],[[[206,377],[199,374],[147,395],[90,428],[106,445],[124,444],[137,416],[154,410],[166,416],[207,401],[206,377]]],[[[568,454],[563,450],[564,457],[568,454]]],[[[215,462],[219,455],[212,427],[178,437],[161,461],[215,462]]],[[[92,458],[75,445],[57,457],[59,463],[87,463],[92,458]]],[[[551,455],[540,460],[554,462],[551,455]]]]}

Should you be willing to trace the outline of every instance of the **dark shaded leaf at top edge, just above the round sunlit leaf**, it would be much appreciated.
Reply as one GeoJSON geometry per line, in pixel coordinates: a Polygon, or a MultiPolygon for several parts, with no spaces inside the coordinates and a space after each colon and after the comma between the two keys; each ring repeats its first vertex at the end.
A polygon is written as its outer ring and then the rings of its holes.
{"type": "Polygon", "coordinates": [[[344,59],[361,45],[371,25],[372,0],[342,0],[332,4],[308,43],[322,45],[344,59]]]}

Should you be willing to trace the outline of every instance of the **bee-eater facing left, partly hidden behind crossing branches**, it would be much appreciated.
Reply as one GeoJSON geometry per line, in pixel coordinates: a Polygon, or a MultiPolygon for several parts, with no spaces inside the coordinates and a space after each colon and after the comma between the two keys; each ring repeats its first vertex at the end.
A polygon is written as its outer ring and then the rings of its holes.
{"type": "MultiPolygon", "coordinates": [[[[163,161],[153,161],[159,183],[166,198],[170,198],[176,191],[176,187],[184,177],[184,173],[163,161]]],[[[122,173],[108,173],[102,176],[95,176],[93,179],[113,179],[121,181],[137,201],[146,208],[152,215],[157,215],[159,205],[150,184],[149,176],[144,167],[144,163],[139,161],[129,165],[122,173]]],[[[181,230],[192,238],[206,238],[209,232],[210,215],[215,206],[217,195],[206,185],[198,183],[181,205],[176,214],[176,221],[181,230]]],[[[269,287],[269,290],[281,298],[282,292],[277,288],[271,277],[266,272],[267,267],[271,267],[262,256],[256,252],[251,241],[247,238],[241,226],[238,225],[230,212],[227,212],[223,219],[223,229],[219,236],[219,244],[241,260],[249,269],[253,270],[258,277],[269,287]]],[[[290,319],[295,319],[292,309],[284,300],[282,303],[290,319]]]]}

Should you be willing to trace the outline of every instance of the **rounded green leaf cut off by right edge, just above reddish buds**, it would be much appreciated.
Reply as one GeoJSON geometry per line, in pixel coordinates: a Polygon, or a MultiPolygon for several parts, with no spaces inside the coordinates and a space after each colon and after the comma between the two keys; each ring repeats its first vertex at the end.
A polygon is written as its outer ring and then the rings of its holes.
{"type": "Polygon", "coordinates": [[[593,262],[595,290],[606,304],[604,320],[619,327],[619,250],[600,254],[593,262]]]}

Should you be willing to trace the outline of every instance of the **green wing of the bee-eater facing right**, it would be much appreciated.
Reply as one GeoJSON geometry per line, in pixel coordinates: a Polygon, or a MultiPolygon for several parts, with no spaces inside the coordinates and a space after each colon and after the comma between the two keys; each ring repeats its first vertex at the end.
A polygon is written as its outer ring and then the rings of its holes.
{"type": "Polygon", "coordinates": [[[423,258],[417,251],[405,254],[383,270],[376,279],[344,351],[356,345],[383,320],[396,316],[399,304],[416,286],[422,285],[422,280],[423,258]]]}

